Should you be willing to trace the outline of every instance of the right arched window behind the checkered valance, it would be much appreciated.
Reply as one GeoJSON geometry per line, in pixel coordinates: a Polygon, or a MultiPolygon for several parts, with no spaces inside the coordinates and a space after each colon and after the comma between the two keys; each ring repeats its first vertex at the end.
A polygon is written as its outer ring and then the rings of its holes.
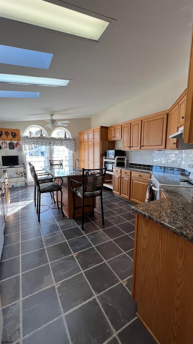
{"type": "MultiPolygon", "coordinates": [[[[70,132],[65,128],[56,128],[52,132],[52,137],[71,138],[70,132]]],[[[72,151],[64,146],[52,146],[52,160],[62,159],[64,166],[72,165],[72,151]]]]}

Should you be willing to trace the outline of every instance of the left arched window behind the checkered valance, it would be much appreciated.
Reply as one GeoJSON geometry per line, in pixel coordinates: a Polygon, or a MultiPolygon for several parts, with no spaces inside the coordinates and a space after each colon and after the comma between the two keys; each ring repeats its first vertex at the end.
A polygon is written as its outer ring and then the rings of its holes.
{"type": "MultiPolygon", "coordinates": [[[[42,130],[43,136],[48,137],[46,130],[40,126],[27,127],[24,136],[39,136],[40,130],[42,130]]],[[[31,162],[35,166],[35,169],[39,170],[40,166],[49,165],[49,149],[47,146],[36,146],[25,152],[26,158],[26,169],[27,169],[27,180],[32,181],[30,169],[28,163],[31,162]]]]}

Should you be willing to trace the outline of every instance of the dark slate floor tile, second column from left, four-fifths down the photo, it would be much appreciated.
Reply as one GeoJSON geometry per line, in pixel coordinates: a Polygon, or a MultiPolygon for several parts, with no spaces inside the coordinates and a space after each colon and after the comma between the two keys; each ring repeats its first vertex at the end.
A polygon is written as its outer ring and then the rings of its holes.
{"type": "Polygon", "coordinates": [[[22,273],[21,281],[23,298],[54,283],[48,264],[22,273]]]}

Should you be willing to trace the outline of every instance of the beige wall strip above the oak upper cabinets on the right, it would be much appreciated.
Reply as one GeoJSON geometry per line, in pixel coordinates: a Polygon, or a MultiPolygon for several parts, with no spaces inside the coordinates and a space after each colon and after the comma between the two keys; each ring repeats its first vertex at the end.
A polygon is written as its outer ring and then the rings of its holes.
{"type": "Polygon", "coordinates": [[[125,101],[91,118],[92,128],[110,126],[124,121],[168,110],[187,87],[188,75],[182,75],[125,101]]]}

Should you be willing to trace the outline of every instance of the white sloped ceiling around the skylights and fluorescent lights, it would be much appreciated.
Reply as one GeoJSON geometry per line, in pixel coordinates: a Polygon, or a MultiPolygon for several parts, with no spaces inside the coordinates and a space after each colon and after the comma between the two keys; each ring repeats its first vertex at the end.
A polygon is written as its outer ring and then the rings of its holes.
{"type": "Polygon", "coordinates": [[[40,92],[1,98],[1,121],[92,117],[188,73],[192,0],[68,0],[114,18],[100,43],[2,21],[0,44],[53,53],[49,69],[0,64],[0,72],[73,79],[69,87],[1,83],[1,90],[40,92]]]}

